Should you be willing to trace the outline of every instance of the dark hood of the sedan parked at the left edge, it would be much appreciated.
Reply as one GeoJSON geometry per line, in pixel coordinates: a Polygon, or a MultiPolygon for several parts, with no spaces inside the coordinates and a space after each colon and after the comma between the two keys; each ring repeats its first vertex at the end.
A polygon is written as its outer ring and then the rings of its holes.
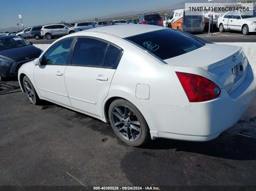
{"type": "Polygon", "coordinates": [[[29,45],[29,46],[22,46],[22,47],[17,47],[17,48],[12,48],[12,49],[7,49],[7,50],[0,50],[0,57],[4,57],[7,60],[15,60],[20,57],[24,56],[32,56],[32,55],[40,55],[41,49],[29,45]]]}

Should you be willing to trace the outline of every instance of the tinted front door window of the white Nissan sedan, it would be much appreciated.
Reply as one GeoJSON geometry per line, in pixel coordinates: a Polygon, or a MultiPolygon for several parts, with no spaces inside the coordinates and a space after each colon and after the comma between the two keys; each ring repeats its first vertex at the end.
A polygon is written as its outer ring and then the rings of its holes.
{"type": "Polygon", "coordinates": [[[44,55],[44,64],[65,65],[68,63],[68,52],[73,38],[62,40],[53,45],[44,55]]]}

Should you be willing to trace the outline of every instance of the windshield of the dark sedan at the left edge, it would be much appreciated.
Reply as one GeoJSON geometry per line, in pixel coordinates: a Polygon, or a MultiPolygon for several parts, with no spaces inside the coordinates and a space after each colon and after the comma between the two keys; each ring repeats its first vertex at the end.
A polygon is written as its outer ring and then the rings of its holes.
{"type": "Polygon", "coordinates": [[[29,42],[21,37],[10,37],[0,39],[0,51],[28,45],[30,45],[29,42]]]}

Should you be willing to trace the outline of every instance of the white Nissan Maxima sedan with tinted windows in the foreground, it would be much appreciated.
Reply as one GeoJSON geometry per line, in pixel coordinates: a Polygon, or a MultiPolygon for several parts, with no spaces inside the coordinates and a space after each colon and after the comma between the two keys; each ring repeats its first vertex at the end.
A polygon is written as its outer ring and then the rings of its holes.
{"type": "Polygon", "coordinates": [[[132,146],[216,138],[256,91],[241,47],[137,24],[62,37],[22,65],[18,80],[31,103],[48,100],[110,123],[132,146]]]}

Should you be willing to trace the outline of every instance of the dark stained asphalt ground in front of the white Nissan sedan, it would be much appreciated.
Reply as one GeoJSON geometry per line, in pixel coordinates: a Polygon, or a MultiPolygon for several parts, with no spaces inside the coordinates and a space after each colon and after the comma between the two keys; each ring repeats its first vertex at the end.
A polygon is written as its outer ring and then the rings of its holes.
{"type": "Polygon", "coordinates": [[[256,99],[214,140],[155,139],[143,148],[97,119],[30,104],[15,78],[0,83],[0,103],[1,185],[256,185],[256,99]]]}

